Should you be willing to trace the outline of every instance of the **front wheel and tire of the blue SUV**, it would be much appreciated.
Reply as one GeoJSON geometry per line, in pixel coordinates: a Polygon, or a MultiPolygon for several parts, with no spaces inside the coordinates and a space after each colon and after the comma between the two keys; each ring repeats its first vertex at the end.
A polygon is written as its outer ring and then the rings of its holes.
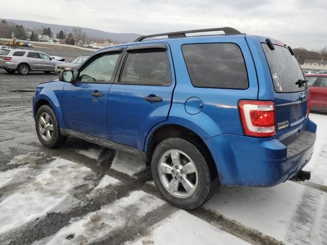
{"type": "Polygon", "coordinates": [[[57,148],[67,140],[67,136],[60,134],[56,114],[50,106],[44,105],[38,109],[35,129],[40,142],[47,148],[57,148]]]}

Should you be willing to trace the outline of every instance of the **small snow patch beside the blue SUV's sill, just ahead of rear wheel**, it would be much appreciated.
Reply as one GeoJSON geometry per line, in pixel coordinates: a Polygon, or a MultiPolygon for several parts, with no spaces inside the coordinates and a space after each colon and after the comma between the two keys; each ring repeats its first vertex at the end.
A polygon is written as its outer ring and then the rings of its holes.
{"type": "Polygon", "coordinates": [[[135,156],[116,152],[111,168],[128,176],[133,176],[146,169],[145,162],[135,156]]]}

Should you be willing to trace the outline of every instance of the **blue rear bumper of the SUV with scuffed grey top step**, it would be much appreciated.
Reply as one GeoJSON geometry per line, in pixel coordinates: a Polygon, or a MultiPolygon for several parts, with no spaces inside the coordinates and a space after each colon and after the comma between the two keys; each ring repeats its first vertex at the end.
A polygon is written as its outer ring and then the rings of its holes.
{"type": "Polygon", "coordinates": [[[288,145],[272,138],[219,135],[205,141],[222,185],[274,186],[292,178],[311,159],[316,125],[308,120],[288,145]]]}

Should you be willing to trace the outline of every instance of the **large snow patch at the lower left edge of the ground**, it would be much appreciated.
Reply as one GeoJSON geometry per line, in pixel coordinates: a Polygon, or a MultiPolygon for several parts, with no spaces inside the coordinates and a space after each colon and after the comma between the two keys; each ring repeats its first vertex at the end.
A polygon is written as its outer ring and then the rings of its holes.
{"type": "Polygon", "coordinates": [[[58,211],[69,209],[69,205],[61,207],[60,204],[68,198],[73,199],[71,192],[74,187],[89,183],[84,181],[84,177],[92,173],[90,168],[65,159],[57,159],[41,165],[40,169],[24,167],[9,170],[6,174],[9,176],[7,180],[10,177],[12,180],[18,174],[22,175],[26,170],[34,170],[32,179],[29,173],[25,173],[27,181],[16,187],[15,193],[0,203],[0,234],[25,225],[55,208],[58,211]]]}

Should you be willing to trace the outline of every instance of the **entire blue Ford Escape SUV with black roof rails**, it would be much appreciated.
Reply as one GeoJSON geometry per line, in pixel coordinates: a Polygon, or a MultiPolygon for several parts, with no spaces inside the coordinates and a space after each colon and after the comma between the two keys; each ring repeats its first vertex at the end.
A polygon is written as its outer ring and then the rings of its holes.
{"type": "Polygon", "coordinates": [[[36,133],[48,148],[73,136],[141,157],[162,195],[192,209],[217,184],[310,178],[306,82],[291,47],[272,38],[232,28],[142,36],[38,85],[36,133]],[[211,31],[224,34],[186,35],[211,31]]]}

